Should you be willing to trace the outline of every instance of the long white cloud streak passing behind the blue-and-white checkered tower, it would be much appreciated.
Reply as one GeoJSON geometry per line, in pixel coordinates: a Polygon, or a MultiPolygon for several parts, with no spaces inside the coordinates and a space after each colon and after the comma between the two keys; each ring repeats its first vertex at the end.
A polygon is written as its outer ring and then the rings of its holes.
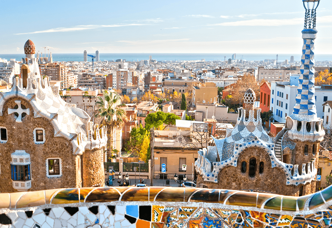
{"type": "MultiPolygon", "coordinates": [[[[317,17],[317,23],[332,23],[332,16],[317,17]]],[[[293,19],[252,19],[245,21],[224,22],[207,26],[287,26],[302,25],[303,18],[293,19]]]]}

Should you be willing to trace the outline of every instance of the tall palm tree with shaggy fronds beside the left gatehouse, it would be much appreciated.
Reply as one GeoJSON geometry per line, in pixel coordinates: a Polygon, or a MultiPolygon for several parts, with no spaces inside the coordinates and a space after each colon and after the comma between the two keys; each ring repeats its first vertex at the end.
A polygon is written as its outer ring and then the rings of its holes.
{"type": "MultiPolygon", "coordinates": [[[[113,140],[116,128],[122,128],[125,122],[128,120],[126,111],[121,107],[126,107],[126,104],[122,103],[122,97],[114,91],[103,91],[104,99],[98,97],[96,102],[97,110],[95,117],[101,117],[100,124],[107,127],[107,149],[109,155],[113,149],[116,149],[115,141],[113,140]]],[[[119,155],[120,156],[120,155],[119,155]]]]}

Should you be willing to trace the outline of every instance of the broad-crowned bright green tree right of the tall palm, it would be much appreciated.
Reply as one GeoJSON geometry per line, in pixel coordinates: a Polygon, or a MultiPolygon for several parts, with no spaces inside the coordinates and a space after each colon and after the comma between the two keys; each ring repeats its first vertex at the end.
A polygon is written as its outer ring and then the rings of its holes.
{"type": "Polygon", "coordinates": [[[159,111],[148,114],[144,121],[145,121],[145,127],[147,129],[150,129],[151,127],[158,128],[162,124],[166,124],[166,126],[163,127],[163,129],[165,129],[170,124],[174,125],[176,119],[181,119],[181,118],[174,113],[164,113],[159,111]]]}

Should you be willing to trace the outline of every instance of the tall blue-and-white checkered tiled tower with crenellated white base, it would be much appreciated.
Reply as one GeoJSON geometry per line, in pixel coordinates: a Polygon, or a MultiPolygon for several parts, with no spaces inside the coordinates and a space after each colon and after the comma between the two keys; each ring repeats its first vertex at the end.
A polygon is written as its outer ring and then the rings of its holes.
{"type": "Polygon", "coordinates": [[[293,113],[286,119],[290,139],[300,141],[322,141],[325,134],[322,119],[317,118],[315,106],[314,41],[316,38],[316,8],[319,0],[302,0],[305,8],[303,48],[299,85],[293,113]]]}

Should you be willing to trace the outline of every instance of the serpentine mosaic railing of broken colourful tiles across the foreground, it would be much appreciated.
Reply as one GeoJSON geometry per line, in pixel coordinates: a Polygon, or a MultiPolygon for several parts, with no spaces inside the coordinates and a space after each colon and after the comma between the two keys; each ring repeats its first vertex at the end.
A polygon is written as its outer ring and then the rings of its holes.
{"type": "Polygon", "coordinates": [[[172,187],[0,194],[3,227],[331,227],[332,187],[293,197],[172,187]]]}

